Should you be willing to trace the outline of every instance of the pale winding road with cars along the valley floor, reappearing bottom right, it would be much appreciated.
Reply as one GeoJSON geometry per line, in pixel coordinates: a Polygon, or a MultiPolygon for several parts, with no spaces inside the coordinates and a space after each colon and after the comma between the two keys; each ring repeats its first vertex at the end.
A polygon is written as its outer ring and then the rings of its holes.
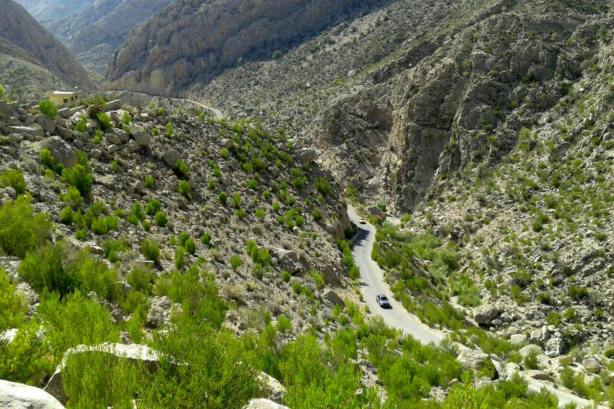
{"type": "MultiPolygon", "coordinates": [[[[382,270],[379,268],[378,264],[371,259],[371,251],[373,251],[373,243],[375,243],[375,226],[369,223],[359,224],[359,218],[352,205],[348,205],[348,217],[360,229],[360,235],[352,247],[352,256],[354,257],[354,263],[356,263],[360,269],[360,288],[363,299],[367,303],[369,310],[375,315],[382,316],[384,322],[388,326],[400,329],[405,334],[413,336],[422,343],[440,343],[444,337],[442,332],[422,324],[418,317],[408,313],[407,310],[403,308],[403,305],[397,302],[397,300],[392,299],[392,291],[390,291],[390,286],[384,281],[382,270]],[[388,296],[392,308],[383,309],[379,307],[378,303],[375,301],[375,297],[382,293],[388,296]]],[[[591,405],[591,401],[559,391],[533,378],[524,378],[529,383],[529,389],[531,391],[539,392],[542,388],[546,388],[549,392],[556,395],[559,399],[559,406],[567,405],[567,403],[575,403],[580,408],[591,405]]]]}

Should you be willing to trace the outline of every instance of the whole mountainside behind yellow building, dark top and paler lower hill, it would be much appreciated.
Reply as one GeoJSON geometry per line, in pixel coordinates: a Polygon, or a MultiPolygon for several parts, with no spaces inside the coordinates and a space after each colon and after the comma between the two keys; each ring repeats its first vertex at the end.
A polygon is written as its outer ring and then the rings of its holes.
{"type": "Polygon", "coordinates": [[[59,86],[93,86],[66,47],[12,0],[0,2],[0,52],[0,83],[9,90],[40,98],[59,86]]]}

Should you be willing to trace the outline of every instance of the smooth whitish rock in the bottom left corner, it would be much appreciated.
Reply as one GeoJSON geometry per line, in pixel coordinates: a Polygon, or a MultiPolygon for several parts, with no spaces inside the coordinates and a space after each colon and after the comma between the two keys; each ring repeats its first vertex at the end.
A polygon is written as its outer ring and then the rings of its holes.
{"type": "Polygon", "coordinates": [[[64,409],[55,397],[34,386],[0,380],[2,409],[64,409]]]}

